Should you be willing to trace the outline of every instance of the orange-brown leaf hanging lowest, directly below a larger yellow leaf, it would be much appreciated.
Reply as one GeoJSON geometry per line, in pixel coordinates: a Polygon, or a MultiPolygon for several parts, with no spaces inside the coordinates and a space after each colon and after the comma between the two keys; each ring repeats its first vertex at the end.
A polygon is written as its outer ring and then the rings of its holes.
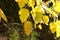
{"type": "Polygon", "coordinates": [[[30,21],[25,21],[24,22],[24,31],[27,36],[29,36],[32,32],[32,22],[30,21]]]}

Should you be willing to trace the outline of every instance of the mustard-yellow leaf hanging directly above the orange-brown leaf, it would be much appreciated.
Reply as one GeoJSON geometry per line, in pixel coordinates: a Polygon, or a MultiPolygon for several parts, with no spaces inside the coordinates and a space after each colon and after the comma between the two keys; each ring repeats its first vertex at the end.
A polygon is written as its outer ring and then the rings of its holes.
{"type": "Polygon", "coordinates": [[[19,11],[19,15],[20,15],[19,18],[20,18],[21,22],[23,23],[29,17],[29,10],[28,9],[25,9],[25,8],[22,8],[19,11]]]}

